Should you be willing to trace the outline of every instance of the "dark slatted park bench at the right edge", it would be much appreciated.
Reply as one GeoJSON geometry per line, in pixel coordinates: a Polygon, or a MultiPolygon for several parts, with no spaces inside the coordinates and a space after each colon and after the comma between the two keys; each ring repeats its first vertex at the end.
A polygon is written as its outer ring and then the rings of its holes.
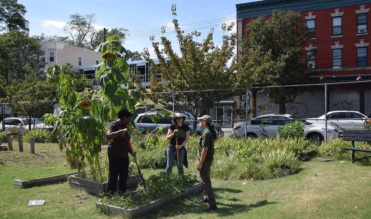
{"type": "Polygon", "coordinates": [[[358,160],[362,160],[367,157],[362,157],[357,160],[354,159],[354,153],[355,151],[360,151],[360,152],[368,152],[371,153],[371,150],[367,149],[361,149],[361,148],[354,148],[354,142],[355,141],[366,141],[370,142],[371,141],[371,130],[344,130],[343,131],[343,141],[352,141],[352,148],[344,147],[343,150],[349,150],[352,151],[352,163],[358,160]]]}

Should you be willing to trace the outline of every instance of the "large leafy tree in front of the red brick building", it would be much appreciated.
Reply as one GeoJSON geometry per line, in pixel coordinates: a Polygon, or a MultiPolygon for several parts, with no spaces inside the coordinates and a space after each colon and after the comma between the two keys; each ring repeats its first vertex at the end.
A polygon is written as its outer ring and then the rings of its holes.
{"type": "MultiPolygon", "coordinates": [[[[311,39],[299,12],[274,10],[272,16],[259,17],[246,26],[242,37],[242,57],[239,58],[237,87],[252,83],[264,86],[306,84],[309,76],[304,73],[310,65],[303,55],[303,45],[311,39]]],[[[311,50],[313,55],[316,49],[311,50]]],[[[280,113],[286,112],[286,103],[295,101],[300,88],[265,89],[267,97],[280,104],[280,113]],[[280,95],[277,95],[280,94],[280,95]]]]}

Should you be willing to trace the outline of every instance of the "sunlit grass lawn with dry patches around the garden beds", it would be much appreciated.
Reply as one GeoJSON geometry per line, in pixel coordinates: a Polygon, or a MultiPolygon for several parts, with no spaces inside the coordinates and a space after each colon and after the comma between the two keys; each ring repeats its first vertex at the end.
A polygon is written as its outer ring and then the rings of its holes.
{"type": "MultiPolygon", "coordinates": [[[[78,191],[68,182],[14,188],[13,180],[36,179],[71,170],[56,144],[37,144],[36,154],[0,152],[0,218],[125,218],[95,209],[98,197],[78,191]],[[46,153],[43,152],[46,150],[46,153]],[[29,200],[45,199],[44,206],[27,206],[29,200]]],[[[196,160],[188,159],[186,172],[197,174],[196,160]]],[[[196,203],[201,194],[161,207],[145,218],[371,218],[371,168],[313,159],[300,173],[280,179],[212,180],[219,210],[203,213],[206,204],[196,203]],[[246,186],[242,182],[247,182],[246,186]]],[[[161,170],[142,170],[145,176],[161,170]]],[[[173,168],[176,171],[176,166],[173,168]]],[[[211,169],[212,171],[212,169],[211,169]]]]}

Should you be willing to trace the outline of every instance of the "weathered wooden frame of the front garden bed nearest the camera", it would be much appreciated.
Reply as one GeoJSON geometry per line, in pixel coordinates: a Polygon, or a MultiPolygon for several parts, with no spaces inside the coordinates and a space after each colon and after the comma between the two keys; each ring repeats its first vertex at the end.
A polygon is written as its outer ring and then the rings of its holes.
{"type": "Polygon", "coordinates": [[[100,202],[96,202],[95,207],[96,208],[101,208],[101,209],[106,208],[107,210],[109,210],[110,212],[112,212],[116,215],[127,215],[127,216],[129,216],[129,218],[135,218],[135,217],[144,215],[148,212],[152,212],[157,207],[165,205],[166,203],[169,203],[169,202],[173,201],[174,199],[178,199],[180,197],[184,197],[184,196],[190,195],[192,193],[200,192],[202,190],[203,190],[202,184],[197,183],[194,186],[188,187],[182,193],[175,193],[173,195],[169,195],[169,196],[163,197],[161,199],[154,200],[154,201],[152,201],[148,204],[142,205],[142,206],[140,206],[138,208],[135,208],[135,209],[124,209],[122,207],[116,207],[116,206],[112,206],[112,205],[105,205],[105,204],[102,204],[100,202]]]}

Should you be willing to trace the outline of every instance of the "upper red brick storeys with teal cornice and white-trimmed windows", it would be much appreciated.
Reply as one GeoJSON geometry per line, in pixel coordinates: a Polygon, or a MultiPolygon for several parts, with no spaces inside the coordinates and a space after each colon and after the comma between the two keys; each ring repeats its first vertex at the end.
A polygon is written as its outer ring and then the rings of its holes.
{"type": "Polygon", "coordinates": [[[302,58],[315,47],[318,53],[312,60],[312,68],[326,70],[313,78],[344,82],[362,76],[370,80],[370,8],[369,0],[265,0],[236,4],[237,36],[241,39],[247,23],[259,16],[272,15],[274,9],[298,11],[302,21],[315,31],[308,44],[303,45],[302,58]]]}

